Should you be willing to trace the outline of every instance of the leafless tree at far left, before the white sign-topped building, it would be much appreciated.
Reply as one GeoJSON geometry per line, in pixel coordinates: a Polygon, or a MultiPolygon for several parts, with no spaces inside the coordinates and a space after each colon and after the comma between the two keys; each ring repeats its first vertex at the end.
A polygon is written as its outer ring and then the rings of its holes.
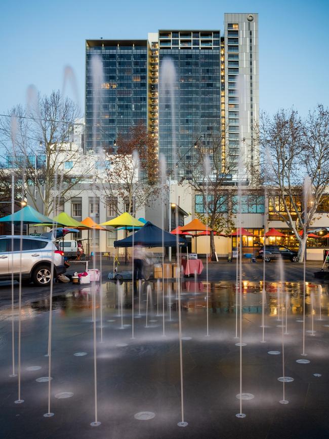
{"type": "Polygon", "coordinates": [[[54,194],[69,200],[71,189],[92,174],[91,161],[69,142],[77,117],[75,103],[53,91],[50,96],[37,94],[34,105],[17,105],[0,119],[8,166],[23,176],[33,207],[38,208],[40,199],[47,216],[54,209],[54,194]]]}

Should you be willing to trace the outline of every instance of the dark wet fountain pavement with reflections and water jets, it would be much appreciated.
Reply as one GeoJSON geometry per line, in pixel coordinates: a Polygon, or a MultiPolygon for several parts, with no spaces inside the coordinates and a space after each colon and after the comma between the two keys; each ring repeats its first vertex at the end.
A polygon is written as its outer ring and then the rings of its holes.
{"type": "MultiPolygon", "coordinates": [[[[207,284],[201,279],[183,281],[183,407],[184,420],[188,422],[185,428],[177,425],[182,420],[182,413],[175,282],[166,282],[163,289],[162,283],[156,281],[142,282],[140,290],[135,286],[134,310],[131,282],[124,282],[119,287],[112,282],[103,282],[102,294],[99,284],[64,285],[62,292],[57,290],[52,313],[51,411],[54,416],[51,418],[43,416],[48,412],[48,382],[36,381],[48,376],[49,358],[45,356],[49,327],[47,292],[40,292],[40,297],[33,299],[31,291],[22,306],[21,397],[24,403],[20,405],[14,403],[18,397],[17,377],[9,377],[12,373],[11,308],[3,302],[5,305],[0,308],[1,437],[327,437],[327,285],[319,287],[311,282],[306,285],[305,329],[311,331],[312,315],[314,329],[313,335],[305,333],[307,356],[301,356],[302,284],[286,282],[282,288],[277,282],[266,284],[265,343],[260,343],[261,287],[259,281],[243,279],[242,341],[246,346],[242,348],[242,393],[250,393],[253,397],[242,400],[242,412],[246,417],[238,419],[235,415],[239,413],[236,395],[240,391],[240,348],[235,346],[239,339],[234,338],[235,283],[209,283],[207,337],[207,284]],[[101,422],[98,427],[90,425],[95,420],[93,295],[96,299],[98,420],[101,422]],[[286,295],[288,306],[285,309],[286,295]],[[280,327],[282,324],[284,327],[280,327]],[[283,331],[288,333],[283,336],[284,375],[294,379],[284,384],[285,399],[289,400],[287,405],[279,403],[283,398],[283,383],[278,381],[282,376],[283,331]],[[279,354],[268,354],[269,351],[279,354]],[[297,363],[298,359],[310,362],[297,363]],[[136,419],[135,415],[140,412],[151,412],[154,417],[136,419]]],[[[14,326],[17,372],[17,308],[14,326]]]]}

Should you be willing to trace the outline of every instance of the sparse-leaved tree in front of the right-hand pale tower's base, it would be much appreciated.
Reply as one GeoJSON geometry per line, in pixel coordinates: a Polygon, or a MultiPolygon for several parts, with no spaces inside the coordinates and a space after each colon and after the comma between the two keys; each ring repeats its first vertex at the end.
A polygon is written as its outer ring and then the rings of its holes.
{"type": "Polygon", "coordinates": [[[200,197],[200,212],[196,212],[196,216],[212,229],[211,258],[216,260],[213,230],[230,233],[234,227],[235,214],[230,208],[232,195],[227,187],[232,169],[227,166],[230,157],[223,145],[225,135],[212,133],[204,139],[205,144],[200,142],[201,137],[195,142],[190,159],[180,158],[179,166],[185,174],[181,184],[187,178],[195,195],[200,197]]]}

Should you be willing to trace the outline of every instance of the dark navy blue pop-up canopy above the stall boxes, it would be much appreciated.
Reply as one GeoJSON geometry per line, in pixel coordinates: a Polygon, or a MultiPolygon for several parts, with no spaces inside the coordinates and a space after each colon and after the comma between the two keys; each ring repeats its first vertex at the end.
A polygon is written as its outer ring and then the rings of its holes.
{"type": "MultiPolygon", "coordinates": [[[[133,236],[134,245],[139,243],[143,247],[162,247],[162,234],[164,247],[176,247],[176,237],[178,235],[172,235],[171,233],[154,226],[154,224],[149,221],[133,235],[128,236],[128,238],[114,241],[114,247],[132,247],[133,236]]],[[[180,245],[187,244],[186,240],[180,236],[178,237],[178,242],[180,245]]]]}

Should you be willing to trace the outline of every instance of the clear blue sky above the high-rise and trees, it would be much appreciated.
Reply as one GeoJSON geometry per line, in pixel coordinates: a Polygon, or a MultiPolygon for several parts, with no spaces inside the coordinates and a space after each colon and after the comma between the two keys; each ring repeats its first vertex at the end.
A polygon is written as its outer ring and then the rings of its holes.
{"type": "Polygon", "coordinates": [[[328,105],[327,0],[3,0],[0,12],[1,113],[24,104],[30,84],[42,93],[62,89],[67,65],[83,107],[85,39],[146,39],[159,28],[222,30],[224,12],[259,13],[261,109],[294,106],[305,115],[318,102],[328,105]]]}

